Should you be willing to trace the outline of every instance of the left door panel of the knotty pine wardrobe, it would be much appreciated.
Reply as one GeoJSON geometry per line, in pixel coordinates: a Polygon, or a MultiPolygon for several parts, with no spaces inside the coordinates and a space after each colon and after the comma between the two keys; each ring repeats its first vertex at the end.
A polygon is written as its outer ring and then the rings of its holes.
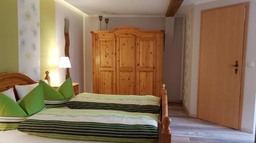
{"type": "Polygon", "coordinates": [[[116,94],[116,38],[96,39],[96,93],[116,94]]]}

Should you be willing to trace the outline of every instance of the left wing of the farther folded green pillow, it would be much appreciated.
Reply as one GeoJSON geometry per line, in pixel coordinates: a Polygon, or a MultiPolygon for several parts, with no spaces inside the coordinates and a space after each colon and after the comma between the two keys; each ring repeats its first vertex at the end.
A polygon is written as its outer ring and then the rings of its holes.
{"type": "Polygon", "coordinates": [[[47,108],[66,106],[66,99],[57,90],[48,85],[45,81],[40,80],[45,96],[45,105],[47,108]]]}

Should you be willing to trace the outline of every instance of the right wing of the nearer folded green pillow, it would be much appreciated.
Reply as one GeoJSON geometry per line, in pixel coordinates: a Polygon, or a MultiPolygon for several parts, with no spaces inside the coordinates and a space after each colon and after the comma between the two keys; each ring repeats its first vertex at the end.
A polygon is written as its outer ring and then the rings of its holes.
{"type": "Polygon", "coordinates": [[[45,108],[44,90],[42,84],[37,85],[30,93],[18,101],[20,107],[28,113],[29,116],[45,108]]]}

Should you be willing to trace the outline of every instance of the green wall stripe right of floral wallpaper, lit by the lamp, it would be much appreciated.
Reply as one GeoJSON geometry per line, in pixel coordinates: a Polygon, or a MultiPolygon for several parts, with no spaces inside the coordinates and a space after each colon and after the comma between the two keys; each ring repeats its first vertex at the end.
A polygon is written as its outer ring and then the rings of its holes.
{"type": "MultiPolygon", "coordinates": [[[[2,1],[2,0],[1,0],[2,1]]],[[[55,42],[55,1],[40,0],[40,64],[41,78],[45,71],[56,72],[56,42],[55,42]]],[[[54,77],[51,77],[54,78],[54,77]]]]}

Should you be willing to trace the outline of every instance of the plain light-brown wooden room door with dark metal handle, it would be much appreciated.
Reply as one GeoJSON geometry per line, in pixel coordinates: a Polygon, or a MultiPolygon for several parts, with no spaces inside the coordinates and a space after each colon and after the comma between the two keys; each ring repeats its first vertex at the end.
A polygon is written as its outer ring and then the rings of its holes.
{"type": "Polygon", "coordinates": [[[238,129],[244,19],[244,4],[201,15],[198,118],[234,129],[238,129]],[[238,67],[229,66],[236,61],[238,67]]]}

